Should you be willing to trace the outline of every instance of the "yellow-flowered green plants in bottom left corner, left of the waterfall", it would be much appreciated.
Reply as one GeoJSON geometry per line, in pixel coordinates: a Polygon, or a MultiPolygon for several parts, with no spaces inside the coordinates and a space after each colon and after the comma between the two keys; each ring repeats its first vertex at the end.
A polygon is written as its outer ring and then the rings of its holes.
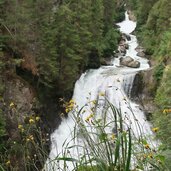
{"type": "Polygon", "coordinates": [[[18,109],[14,103],[10,104],[9,110],[15,113],[18,122],[6,131],[7,135],[12,131],[12,137],[6,136],[2,139],[2,134],[0,135],[0,170],[41,170],[48,158],[49,142],[49,136],[40,128],[41,118],[36,115],[23,115],[23,118],[17,118],[18,109]]]}

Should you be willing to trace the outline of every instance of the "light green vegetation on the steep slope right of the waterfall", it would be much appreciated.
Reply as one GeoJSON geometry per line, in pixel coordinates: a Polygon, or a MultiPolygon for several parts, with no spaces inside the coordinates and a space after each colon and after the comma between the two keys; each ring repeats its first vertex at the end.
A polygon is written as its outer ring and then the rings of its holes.
{"type": "Polygon", "coordinates": [[[167,164],[171,156],[171,2],[170,0],[128,0],[128,5],[137,16],[137,34],[146,48],[146,54],[154,64],[153,85],[154,125],[159,127],[157,136],[164,144],[167,164]]]}

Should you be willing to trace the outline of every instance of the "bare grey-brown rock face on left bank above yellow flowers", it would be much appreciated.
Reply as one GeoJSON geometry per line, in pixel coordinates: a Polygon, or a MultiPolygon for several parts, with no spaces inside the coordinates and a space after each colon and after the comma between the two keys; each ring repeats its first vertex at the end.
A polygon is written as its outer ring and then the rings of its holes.
{"type": "Polygon", "coordinates": [[[22,79],[12,78],[6,82],[6,90],[4,92],[4,100],[9,106],[11,103],[15,105],[17,111],[7,110],[7,130],[12,139],[18,137],[17,135],[17,123],[22,123],[24,116],[32,114],[32,105],[35,97],[35,93],[32,88],[25,83],[22,79]]]}

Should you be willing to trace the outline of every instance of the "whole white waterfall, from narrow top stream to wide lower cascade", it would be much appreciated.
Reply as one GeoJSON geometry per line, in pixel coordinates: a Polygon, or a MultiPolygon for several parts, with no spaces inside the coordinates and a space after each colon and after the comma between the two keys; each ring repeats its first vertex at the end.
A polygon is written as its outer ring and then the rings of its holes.
{"type": "MultiPolygon", "coordinates": [[[[131,134],[137,139],[142,135],[147,137],[153,135],[151,125],[146,121],[140,106],[130,100],[135,75],[141,70],[148,69],[149,64],[147,59],[137,56],[135,50],[138,46],[137,39],[136,36],[131,34],[136,27],[136,22],[129,20],[127,12],[125,16],[125,20],[118,23],[120,31],[130,36],[130,40],[126,41],[129,48],[124,57],[131,56],[134,60],[139,61],[140,67],[130,68],[121,66],[119,63],[121,56],[119,56],[119,58],[113,59],[112,66],[102,66],[99,69],[86,71],[75,84],[73,103],[76,105],[76,110],[80,111],[78,118],[84,123],[84,129],[94,133],[94,136],[92,134],[92,136],[89,137],[89,139],[94,142],[98,141],[97,135],[99,135],[99,132],[95,127],[91,126],[94,124],[93,117],[96,121],[99,121],[99,123],[104,122],[104,125],[108,123],[103,129],[105,133],[111,136],[118,136],[117,131],[119,129],[129,131],[129,128],[131,128],[131,134]],[[117,125],[116,122],[111,122],[116,116],[111,112],[112,109],[108,109],[108,106],[110,106],[108,102],[116,107],[116,113],[119,111],[122,114],[119,117],[124,120],[123,128],[121,125],[117,125]],[[83,106],[84,108],[82,109],[83,106]],[[95,116],[91,114],[93,113],[91,110],[96,111],[95,116]]],[[[51,152],[44,166],[44,170],[74,170],[76,167],[74,160],[81,160],[82,156],[84,156],[85,160],[86,152],[89,153],[90,150],[92,150],[92,147],[89,149],[89,146],[92,144],[88,142],[85,143],[86,138],[82,129],[77,126],[76,120],[73,118],[73,112],[70,112],[68,118],[63,118],[58,129],[51,135],[51,152]],[[75,135],[77,136],[75,137],[75,135]],[[87,147],[83,148],[83,146],[87,147]]],[[[102,140],[103,138],[104,137],[102,137],[102,140]]],[[[116,144],[113,144],[113,146],[115,145],[116,144]]],[[[96,148],[94,147],[94,149],[96,148]]],[[[97,151],[101,150],[101,154],[104,154],[103,156],[99,155],[99,158],[103,158],[104,161],[107,158],[105,149],[105,143],[103,142],[96,149],[97,151]]],[[[115,158],[114,156],[111,156],[111,158],[112,157],[115,158]]],[[[136,162],[133,157],[130,160],[132,163],[136,162]]],[[[96,163],[97,161],[94,161],[95,165],[96,163]]]]}

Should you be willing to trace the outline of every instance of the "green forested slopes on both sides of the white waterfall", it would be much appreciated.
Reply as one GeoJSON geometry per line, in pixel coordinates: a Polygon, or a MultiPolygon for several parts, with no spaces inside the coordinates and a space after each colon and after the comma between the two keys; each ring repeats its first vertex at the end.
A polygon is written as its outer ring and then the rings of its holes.
{"type": "Polygon", "coordinates": [[[44,167],[50,134],[72,107],[64,101],[82,73],[114,57],[122,38],[116,23],[126,10],[136,18],[134,34],[152,68],[144,85],[150,100],[143,103],[152,103],[150,122],[162,144],[156,170],[171,170],[170,0],[0,0],[0,170],[44,167]]]}

